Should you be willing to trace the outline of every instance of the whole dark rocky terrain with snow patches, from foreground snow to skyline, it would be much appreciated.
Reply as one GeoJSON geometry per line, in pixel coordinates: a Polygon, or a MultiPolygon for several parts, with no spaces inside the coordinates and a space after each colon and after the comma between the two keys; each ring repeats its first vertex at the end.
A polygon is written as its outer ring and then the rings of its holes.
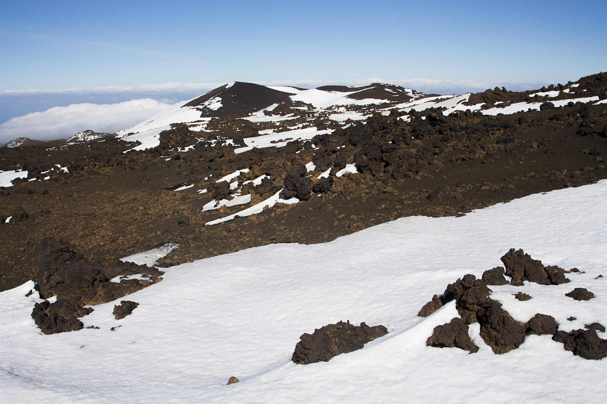
{"type": "Polygon", "coordinates": [[[170,267],[591,184],[606,90],[605,73],[464,96],[236,82],[116,136],[1,148],[0,174],[22,178],[0,189],[0,290],[36,279],[45,237],[99,265],[174,242],[170,267]]]}

